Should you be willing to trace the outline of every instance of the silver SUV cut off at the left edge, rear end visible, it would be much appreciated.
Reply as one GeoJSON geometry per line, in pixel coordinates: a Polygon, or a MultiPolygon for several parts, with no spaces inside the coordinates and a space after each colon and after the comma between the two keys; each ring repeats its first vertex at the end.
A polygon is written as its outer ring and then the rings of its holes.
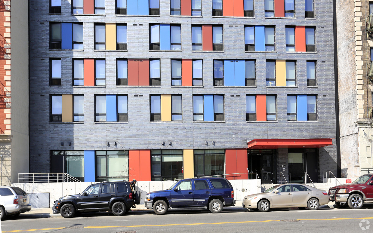
{"type": "Polygon", "coordinates": [[[31,210],[28,194],[21,188],[0,186],[0,220],[31,210]]]}

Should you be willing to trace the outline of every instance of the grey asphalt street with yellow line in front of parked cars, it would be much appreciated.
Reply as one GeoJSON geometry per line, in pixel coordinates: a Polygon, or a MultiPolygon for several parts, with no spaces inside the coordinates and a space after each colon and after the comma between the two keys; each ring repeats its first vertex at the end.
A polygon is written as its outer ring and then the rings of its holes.
{"type": "Polygon", "coordinates": [[[360,210],[324,206],[316,211],[288,208],[264,213],[248,211],[242,207],[225,207],[220,214],[211,214],[207,209],[174,209],[165,215],[137,210],[120,217],[110,212],[82,214],[74,218],[21,214],[18,218],[1,221],[1,229],[3,233],[369,232],[373,231],[372,211],[373,204],[360,210]]]}

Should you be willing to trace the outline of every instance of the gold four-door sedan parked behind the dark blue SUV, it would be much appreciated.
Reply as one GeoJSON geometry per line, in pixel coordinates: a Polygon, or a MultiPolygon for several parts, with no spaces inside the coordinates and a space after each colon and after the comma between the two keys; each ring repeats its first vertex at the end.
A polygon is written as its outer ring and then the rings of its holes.
{"type": "Polygon", "coordinates": [[[301,210],[317,210],[329,203],[327,192],[303,184],[275,185],[262,193],[244,197],[242,207],[266,212],[270,208],[298,207],[301,210]]]}

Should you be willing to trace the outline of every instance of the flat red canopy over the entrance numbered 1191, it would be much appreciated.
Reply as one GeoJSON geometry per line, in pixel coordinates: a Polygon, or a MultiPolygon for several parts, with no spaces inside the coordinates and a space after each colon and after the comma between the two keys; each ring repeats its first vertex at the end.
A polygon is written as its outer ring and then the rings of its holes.
{"type": "Polygon", "coordinates": [[[247,143],[248,149],[318,148],[332,145],[332,138],[308,139],[254,139],[247,143]]]}

